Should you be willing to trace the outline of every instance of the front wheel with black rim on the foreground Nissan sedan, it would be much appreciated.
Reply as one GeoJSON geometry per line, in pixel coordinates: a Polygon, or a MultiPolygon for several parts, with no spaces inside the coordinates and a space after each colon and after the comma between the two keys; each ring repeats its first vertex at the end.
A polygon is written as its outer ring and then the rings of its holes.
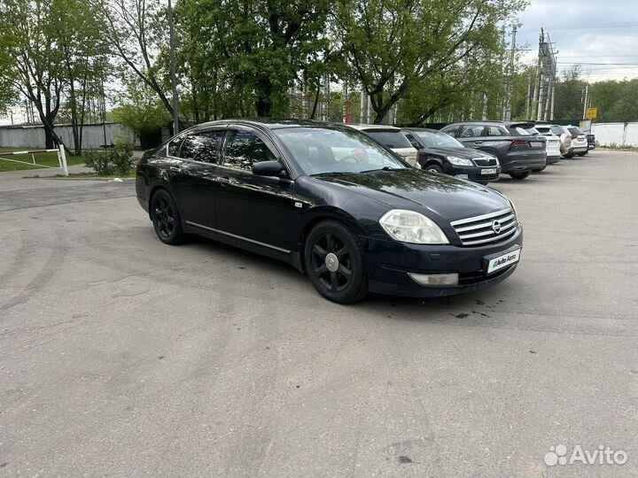
{"type": "Polygon", "coordinates": [[[304,262],[315,289],[332,302],[353,304],[368,294],[362,243],[343,224],[317,224],[307,236],[304,262]]]}

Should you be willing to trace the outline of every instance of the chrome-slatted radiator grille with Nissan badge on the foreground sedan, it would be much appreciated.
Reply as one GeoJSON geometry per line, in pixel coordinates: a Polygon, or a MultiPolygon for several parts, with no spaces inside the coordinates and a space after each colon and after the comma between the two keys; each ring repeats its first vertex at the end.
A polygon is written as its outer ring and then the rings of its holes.
{"type": "Polygon", "coordinates": [[[513,210],[492,212],[451,223],[463,245],[478,245],[502,241],[514,234],[517,228],[517,217],[513,210]]]}

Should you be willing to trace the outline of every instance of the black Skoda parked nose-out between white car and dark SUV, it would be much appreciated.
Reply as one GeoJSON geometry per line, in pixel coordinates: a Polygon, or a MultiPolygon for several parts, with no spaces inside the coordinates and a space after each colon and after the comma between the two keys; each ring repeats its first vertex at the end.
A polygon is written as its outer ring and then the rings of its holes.
{"type": "Polygon", "coordinates": [[[419,165],[431,173],[446,173],[457,178],[487,184],[501,174],[498,159],[489,153],[466,148],[450,135],[426,127],[408,127],[401,133],[418,152],[419,165]]]}

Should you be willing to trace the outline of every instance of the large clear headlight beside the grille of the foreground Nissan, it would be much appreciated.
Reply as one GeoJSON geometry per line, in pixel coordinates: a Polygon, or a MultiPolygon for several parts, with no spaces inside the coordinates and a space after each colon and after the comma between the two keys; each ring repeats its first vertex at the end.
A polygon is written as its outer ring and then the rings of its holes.
{"type": "Polygon", "coordinates": [[[385,212],[379,220],[385,232],[396,241],[413,244],[448,244],[447,236],[437,224],[423,214],[404,209],[385,212]]]}

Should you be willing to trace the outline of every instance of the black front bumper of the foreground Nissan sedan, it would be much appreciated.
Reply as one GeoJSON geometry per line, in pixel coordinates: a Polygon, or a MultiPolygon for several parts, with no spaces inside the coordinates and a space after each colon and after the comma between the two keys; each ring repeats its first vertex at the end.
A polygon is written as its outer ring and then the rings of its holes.
{"type": "Polygon", "coordinates": [[[408,297],[454,296],[486,289],[507,279],[517,263],[494,274],[487,274],[490,257],[513,251],[523,245],[523,229],[499,243],[478,247],[420,245],[362,237],[367,251],[370,292],[408,297]],[[413,274],[459,274],[455,286],[423,286],[413,274]]]}

